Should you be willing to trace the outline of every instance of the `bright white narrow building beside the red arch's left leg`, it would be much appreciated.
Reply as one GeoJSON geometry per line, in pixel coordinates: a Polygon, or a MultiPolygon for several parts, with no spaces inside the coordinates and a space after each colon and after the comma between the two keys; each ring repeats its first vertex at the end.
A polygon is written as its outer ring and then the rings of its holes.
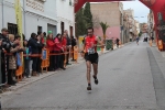
{"type": "Polygon", "coordinates": [[[75,35],[74,0],[56,0],[57,3],[57,32],[68,30],[69,36],[75,35]]]}

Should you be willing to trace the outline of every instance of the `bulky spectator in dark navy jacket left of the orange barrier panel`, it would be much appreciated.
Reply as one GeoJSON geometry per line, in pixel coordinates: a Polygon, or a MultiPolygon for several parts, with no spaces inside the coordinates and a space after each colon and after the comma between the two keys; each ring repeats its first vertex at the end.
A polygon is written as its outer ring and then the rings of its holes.
{"type": "MultiPolygon", "coordinates": [[[[29,41],[29,44],[30,44],[30,46],[32,48],[32,54],[38,54],[40,42],[37,42],[35,33],[31,34],[31,38],[29,41]]],[[[32,76],[38,76],[38,74],[36,73],[36,69],[37,69],[37,66],[36,66],[37,59],[38,59],[38,57],[32,57],[32,61],[33,61],[33,64],[32,64],[32,76]]]]}

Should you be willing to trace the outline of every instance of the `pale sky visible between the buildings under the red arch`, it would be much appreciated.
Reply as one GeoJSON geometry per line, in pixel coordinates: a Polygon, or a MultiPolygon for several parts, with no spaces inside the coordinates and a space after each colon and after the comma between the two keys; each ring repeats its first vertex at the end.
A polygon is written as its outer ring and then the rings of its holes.
{"type": "Polygon", "coordinates": [[[150,9],[146,8],[139,0],[122,1],[122,3],[123,3],[123,9],[124,10],[130,9],[130,8],[134,10],[134,19],[138,20],[140,23],[147,22],[147,14],[150,12],[150,9]]]}

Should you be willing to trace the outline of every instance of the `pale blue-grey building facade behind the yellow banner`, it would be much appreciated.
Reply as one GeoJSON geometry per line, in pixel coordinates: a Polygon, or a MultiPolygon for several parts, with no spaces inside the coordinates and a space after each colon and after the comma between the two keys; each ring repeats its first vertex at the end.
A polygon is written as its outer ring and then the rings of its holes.
{"type": "MultiPolygon", "coordinates": [[[[30,38],[31,33],[53,31],[57,33],[56,0],[20,0],[22,7],[23,34],[30,38]]],[[[1,28],[8,28],[10,33],[18,33],[14,0],[1,0],[1,28]],[[8,14],[7,14],[8,13],[8,14]]]]}

